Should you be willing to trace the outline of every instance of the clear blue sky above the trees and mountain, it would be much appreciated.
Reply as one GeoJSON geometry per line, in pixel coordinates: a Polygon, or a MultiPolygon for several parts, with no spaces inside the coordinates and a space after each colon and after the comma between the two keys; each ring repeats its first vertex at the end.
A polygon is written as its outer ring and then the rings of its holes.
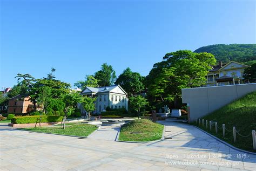
{"type": "Polygon", "coordinates": [[[51,67],[71,85],[103,63],[146,76],[167,52],[256,42],[255,1],[0,2],[0,89],[51,67]]]}

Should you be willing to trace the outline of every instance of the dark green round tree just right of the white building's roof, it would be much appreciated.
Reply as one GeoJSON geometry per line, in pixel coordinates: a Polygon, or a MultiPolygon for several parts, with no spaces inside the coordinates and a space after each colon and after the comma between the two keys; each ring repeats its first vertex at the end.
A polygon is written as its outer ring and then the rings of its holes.
{"type": "Polygon", "coordinates": [[[129,97],[137,95],[144,88],[143,77],[138,72],[132,72],[129,67],[120,74],[114,84],[122,86],[129,97]]]}

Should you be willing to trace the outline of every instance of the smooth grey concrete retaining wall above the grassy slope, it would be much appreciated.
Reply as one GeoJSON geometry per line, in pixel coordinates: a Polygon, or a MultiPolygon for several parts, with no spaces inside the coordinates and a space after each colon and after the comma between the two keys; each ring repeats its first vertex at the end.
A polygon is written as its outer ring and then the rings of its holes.
{"type": "Polygon", "coordinates": [[[182,90],[182,102],[190,106],[188,120],[194,121],[252,91],[256,84],[187,88],[182,90]]]}

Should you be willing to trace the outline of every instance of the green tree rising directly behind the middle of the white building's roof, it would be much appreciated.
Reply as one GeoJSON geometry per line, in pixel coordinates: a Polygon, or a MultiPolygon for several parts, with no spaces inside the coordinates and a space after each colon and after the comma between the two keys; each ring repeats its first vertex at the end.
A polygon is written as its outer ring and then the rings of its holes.
{"type": "Polygon", "coordinates": [[[95,73],[95,78],[98,80],[98,85],[100,87],[110,86],[116,81],[116,71],[113,70],[111,65],[104,63],[102,64],[101,69],[95,73]]]}

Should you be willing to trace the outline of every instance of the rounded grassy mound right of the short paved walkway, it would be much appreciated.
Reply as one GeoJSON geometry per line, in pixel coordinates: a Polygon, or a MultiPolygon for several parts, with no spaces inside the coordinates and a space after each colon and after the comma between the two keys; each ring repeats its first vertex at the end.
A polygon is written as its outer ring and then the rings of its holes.
{"type": "Polygon", "coordinates": [[[153,141],[161,139],[164,126],[148,119],[132,120],[120,131],[120,141],[153,141]]]}

